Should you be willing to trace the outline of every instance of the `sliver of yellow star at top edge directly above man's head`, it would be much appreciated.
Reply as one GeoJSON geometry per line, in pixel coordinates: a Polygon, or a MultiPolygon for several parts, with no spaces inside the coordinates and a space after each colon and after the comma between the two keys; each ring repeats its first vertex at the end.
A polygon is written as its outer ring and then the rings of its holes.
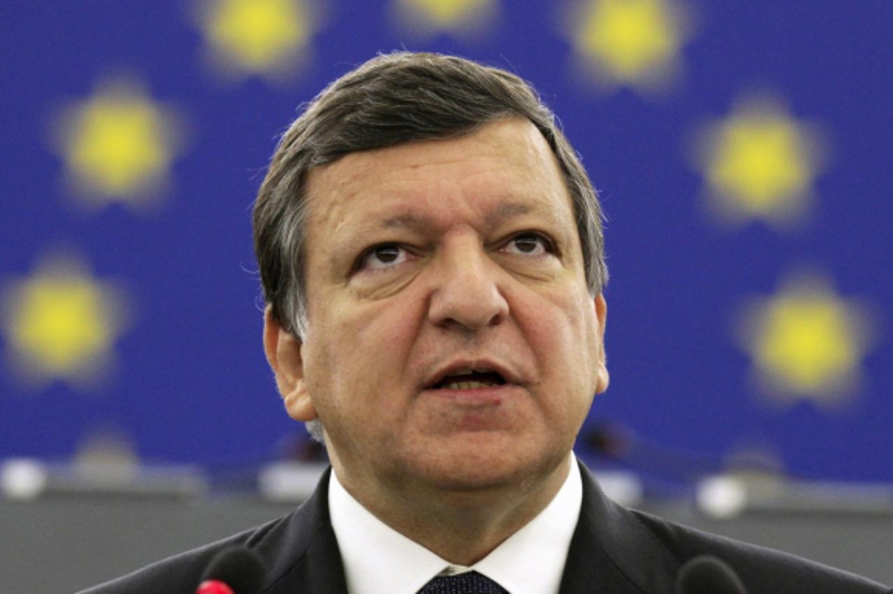
{"type": "Polygon", "coordinates": [[[468,36],[486,28],[499,5],[497,0],[395,0],[395,7],[405,26],[421,35],[452,31],[468,36]]]}

